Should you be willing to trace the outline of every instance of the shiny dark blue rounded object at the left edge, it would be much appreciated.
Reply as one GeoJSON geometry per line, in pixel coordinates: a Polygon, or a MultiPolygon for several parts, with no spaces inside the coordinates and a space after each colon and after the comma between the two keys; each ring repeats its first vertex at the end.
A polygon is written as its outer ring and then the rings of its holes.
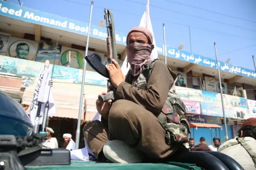
{"type": "Polygon", "coordinates": [[[23,107],[0,92],[0,134],[27,136],[32,128],[33,124],[23,107]]]}

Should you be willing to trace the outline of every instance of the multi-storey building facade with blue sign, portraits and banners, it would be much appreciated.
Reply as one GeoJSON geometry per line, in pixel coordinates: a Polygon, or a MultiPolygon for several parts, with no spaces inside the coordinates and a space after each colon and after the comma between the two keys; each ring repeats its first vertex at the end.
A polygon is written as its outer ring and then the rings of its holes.
{"type": "MultiPolygon", "coordinates": [[[[55,65],[52,73],[58,111],[55,117],[75,120],[78,117],[88,24],[9,2],[0,4],[0,90],[12,96],[18,95],[20,98],[16,100],[21,99],[20,103],[29,113],[32,100],[30,92],[34,91],[44,62],[49,60],[50,70],[55,65]],[[67,107],[72,109],[72,114],[66,112],[67,107]]],[[[106,36],[105,28],[92,25],[88,53],[98,53],[103,64],[107,61],[106,36]]],[[[122,64],[126,57],[126,34],[116,32],[116,42],[122,64]]],[[[156,46],[158,57],[164,60],[163,45],[157,43],[156,46]]],[[[178,75],[176,92],[189,111],[187,116],[192,123],[191,137],[199,140],[204,136],[208,144],[212,143],[214,136],[224,141],[216,61],[169,46],[166,51],[167,64],[178,75]]],[[[256,73],[222,61],[218,64],[228,136],[233,138],[244,119],[256,117],[256,73]]],[[[86,114],[82,115],[82,120],[89,121],[97,112],[95,100],[98,94],[106,91],[106,78],[89,65],[86,68],[86,114]]]]}

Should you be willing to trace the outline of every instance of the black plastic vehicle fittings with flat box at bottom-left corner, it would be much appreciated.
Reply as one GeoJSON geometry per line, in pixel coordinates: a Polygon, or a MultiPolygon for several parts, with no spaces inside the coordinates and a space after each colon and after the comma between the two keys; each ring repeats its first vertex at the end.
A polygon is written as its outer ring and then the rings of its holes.
{"type": "Polygon", "coordinates": [[[70,150],[43,149],[45,139],[44,134],[0,135],[0,169],[26,170],[24,166],[69,165],[70,150]]]}

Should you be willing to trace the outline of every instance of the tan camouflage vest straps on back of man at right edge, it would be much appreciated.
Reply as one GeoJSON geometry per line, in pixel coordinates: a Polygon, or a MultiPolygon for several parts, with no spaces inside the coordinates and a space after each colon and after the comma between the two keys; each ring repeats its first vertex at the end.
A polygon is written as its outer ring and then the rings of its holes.
{"type": "Polygon", "coordinates": [[[252,148],[244,141],[244,138],[236,138],[236,142],[228,142],[228,144],[224,145],[222,148],[218,149],[218,152],[221,152],[222,150],[234,146],[236,144],[241,144],[243,148],[248,152],[250,157],[252,158],[252,161],[254,162],[254,166],[256,167],[256,153],[252,150],[252,148]]]}

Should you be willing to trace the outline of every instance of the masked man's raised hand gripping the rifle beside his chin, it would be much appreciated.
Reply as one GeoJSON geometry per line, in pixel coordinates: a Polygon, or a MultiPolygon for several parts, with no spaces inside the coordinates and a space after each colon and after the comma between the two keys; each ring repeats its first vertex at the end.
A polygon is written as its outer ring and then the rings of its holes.
{"type": "Polygon", "coordinates": [[[117,88],[122,81],[125,81],[125,77],[118,62],[114,59],[112,59],[112,62],[113,64],[106,65],[106,69],[108,70],[112,84],[117,88]]]}

